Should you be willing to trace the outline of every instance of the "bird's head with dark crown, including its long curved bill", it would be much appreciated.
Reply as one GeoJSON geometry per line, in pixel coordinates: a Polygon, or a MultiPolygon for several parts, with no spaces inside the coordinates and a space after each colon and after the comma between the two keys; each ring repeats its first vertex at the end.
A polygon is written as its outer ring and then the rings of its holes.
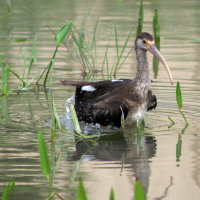
{"type": "Polygon", "coordinates": [[[164,57],[161,55],[159,50],[156,48],[153,36],[151,34],[143,32],[140,35],[138,35],[135,40],[135,49],[150,51],[154,56],[156,56],[160,60],[160,62],[164,65],[165,69],[167,70],[167,73],[170,78],[170,82],[173,85],[173,78],[172,78],[170,69],[169,69],[164,57]]]}

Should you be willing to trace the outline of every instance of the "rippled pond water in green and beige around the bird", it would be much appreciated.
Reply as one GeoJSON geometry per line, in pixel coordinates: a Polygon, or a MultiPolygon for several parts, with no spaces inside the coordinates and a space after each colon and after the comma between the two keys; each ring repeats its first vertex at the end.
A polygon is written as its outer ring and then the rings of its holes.
{"type": "MultiPolygon", "coordinates": [[[[22,74],[22,52],[30,56],[32,41],[37,33],[36,58],[30,78],[38,76],[48,65],[56,44],[54,33],[67,20],[78,29],[83,27],[85,39],[91,41],[95,22],[99,17],[96,34],[97,73],[87,80],[107,78],[106,68],[101,73],[103,58],[108,53],[109,66],[116,58],[114,24],[119,44],[123,45],[131,29],[127,52],[133,47],[137,28],[139,1],[134,0],[57,0],[57,1],[0,2],[0,55],[13,70],[22,74]],[[22,39],[23,38],[23,39],[22,39]],[[21,40],[21,42],[19,42],[21,40]]],[[[146,113],[145,127],[140,144],[132,134],[119,131],[115,137],[104,137],[95,145],[75,141],[66,133],[58,133],[56,153],[61,155],[54,177],[54,191],[63,199],[75,199],[79,178],[84,181],[88,199],[109,199],[110,189],[116,199],[133,199],[133,186],[141,180],[147,198],[183,200],[200,198],[200,2],[199,0],[144,1],[143,30],[152,33],[154,9],[158,9],[161,26],[161,52],[167,60],[173,77],[181,83],[183,112],[189,126],[176,105],[175,86],[160,65],[157,78],[152,72],[152,90],[157,96],[157,109],[146,113]],[[171,125],[168,117],[175,124],[171,125]],[[177,159],[177,143],[182,142],[181,156],[177,159]]],[[[74,95],[73,87],[63,87],[59,80],[83,79],[82,66],[72,58],[74,52],[64,45],[59,47],[49,86],[57,112],[65,122],[66,99],[74,95]]],[[[152,56],[149,55],[152,65],[152,56]]],[[[134,51],[117,73],[117,78],[132,78],[136,72],[134,51]]],[[[50,92],[24,91],[18,93],[19,80],[10,75],[10,93],[0,97],[0,196],[12,179],[16,183],[12,199],[45,199],[48,185],[40,170],[38,131],[43,131],[50,145],[49,121],[52,118],[50,92]]],[[[96,128],[93,130],[98,132],[96,128]]],[[[55,197],[55,199],[59,197],[55,197]]]]}

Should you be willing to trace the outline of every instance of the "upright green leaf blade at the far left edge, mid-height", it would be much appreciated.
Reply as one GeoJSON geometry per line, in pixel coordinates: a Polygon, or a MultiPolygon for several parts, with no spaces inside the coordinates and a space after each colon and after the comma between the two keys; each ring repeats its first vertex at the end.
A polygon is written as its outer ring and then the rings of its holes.
{"type": "Polygon", "coordinates": [[[8,80],[9,80],[10,67],[8,65],[2,65],[2,86],[1,92],[3,95],[8,94],[8,80]]]}

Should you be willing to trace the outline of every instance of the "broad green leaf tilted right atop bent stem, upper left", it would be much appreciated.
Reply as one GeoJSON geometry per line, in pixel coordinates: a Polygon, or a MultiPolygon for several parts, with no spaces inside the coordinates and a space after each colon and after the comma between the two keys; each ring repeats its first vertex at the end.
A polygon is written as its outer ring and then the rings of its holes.
{"type": "Polygon", "coordinates": [[[56,34],[55,41],[60,44],[64,42],[65,37],[68,35],[72,27],[72,21],[68,21],[56,34]]]}

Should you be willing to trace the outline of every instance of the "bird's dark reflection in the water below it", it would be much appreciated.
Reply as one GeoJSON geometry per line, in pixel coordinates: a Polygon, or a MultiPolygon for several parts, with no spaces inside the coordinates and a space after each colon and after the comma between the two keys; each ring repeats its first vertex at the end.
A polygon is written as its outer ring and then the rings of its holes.
{"type": "Polygon", "coordinates": [[[156,140],[153,136],[119,131],[115,134],[102,136],[97,143],[86,140],[76,143],[76,155],[74,160],[98,160],[116,161],[121,163],[119,175],[123,176],[123,170],[133,170],[135,178],[141,180],[145,192],[148,191],[149,177],[151,174],[150,158],[156,153],[156,140]],[[121,173],[120,173],[121,171],[121,173]]]}

